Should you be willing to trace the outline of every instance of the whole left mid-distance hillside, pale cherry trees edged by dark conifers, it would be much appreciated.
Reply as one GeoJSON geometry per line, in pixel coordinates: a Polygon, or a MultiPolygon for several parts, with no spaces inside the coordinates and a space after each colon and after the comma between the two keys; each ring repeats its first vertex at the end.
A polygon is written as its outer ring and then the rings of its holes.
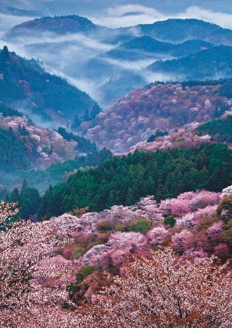
{"type": "Polygon", "coordinates": [[[80,166],[99,164],[104,154],[84,137],[63,127],[39,128],[21,112],[0,104],[0,181],[8,191],[29,179],[31,187],[43,192],[80,166]]]}

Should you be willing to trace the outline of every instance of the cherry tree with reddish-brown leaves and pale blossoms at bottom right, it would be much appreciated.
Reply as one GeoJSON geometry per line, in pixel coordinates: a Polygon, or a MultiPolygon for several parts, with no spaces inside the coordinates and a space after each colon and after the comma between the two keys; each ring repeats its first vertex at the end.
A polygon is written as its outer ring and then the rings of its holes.
{"type": "Polygon", "coordinates": [[[91,327],[230,328],[231,273],[213,262],[182,261],[170,248],[134,259],[94,299],[91,327]]]}

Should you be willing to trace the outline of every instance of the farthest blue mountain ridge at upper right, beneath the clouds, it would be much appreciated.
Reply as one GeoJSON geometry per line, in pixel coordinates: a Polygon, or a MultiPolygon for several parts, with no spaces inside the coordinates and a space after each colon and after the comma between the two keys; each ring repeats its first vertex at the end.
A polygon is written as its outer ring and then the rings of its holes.
{"type": "MultiPolygon", "coordinates": [[[[198,19],[168,19],[154,24],[136,25],[141,35],[152,36],[160,41],[180,43],[191,39],[200,39],[216,45],[232,45],[232,30],[198,19]]],[[[129,27],[121,28],[122,33],[129,27]]]]}

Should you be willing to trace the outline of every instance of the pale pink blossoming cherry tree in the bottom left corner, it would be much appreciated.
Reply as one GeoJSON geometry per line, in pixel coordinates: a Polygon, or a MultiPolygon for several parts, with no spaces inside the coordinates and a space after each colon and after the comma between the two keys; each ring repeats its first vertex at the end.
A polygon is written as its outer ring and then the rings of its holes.
{"type": "Polygon", "coordinates": [[[18,318],[18,327],[40,327],[26,323],[43,307],[42,312],[48,313],[54,308],[55,316],[56,308],[61,311],[59,304],[69,302],[66,286],[74,267],[70,261],[52,257],[54,249],[67,242],[62,241],[62,234],[54,233],[55,226],[12,220],[17,212],[17,204],[0,202],[0,327],[16,327],[18,318]],[[58,284],[47,283],[59,277],[58,284]]]}

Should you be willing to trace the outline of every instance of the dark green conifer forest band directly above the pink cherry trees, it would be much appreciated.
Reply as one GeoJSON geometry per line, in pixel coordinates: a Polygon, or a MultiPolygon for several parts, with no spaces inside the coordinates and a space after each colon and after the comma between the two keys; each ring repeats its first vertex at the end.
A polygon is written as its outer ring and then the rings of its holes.
{"type": "Polygon", "coordinates": [[[115,156],[96,169],[71,175],[67,184],[55,186],[47,193],[41,215],[50,218],[85,206],[101,211],[115,204],[132,205],[147,196],[149,178],[158,201],[201,188],[221,191],[232,184],[232,151],[226,144],[203,144],[200,148],[115,156]]]}

